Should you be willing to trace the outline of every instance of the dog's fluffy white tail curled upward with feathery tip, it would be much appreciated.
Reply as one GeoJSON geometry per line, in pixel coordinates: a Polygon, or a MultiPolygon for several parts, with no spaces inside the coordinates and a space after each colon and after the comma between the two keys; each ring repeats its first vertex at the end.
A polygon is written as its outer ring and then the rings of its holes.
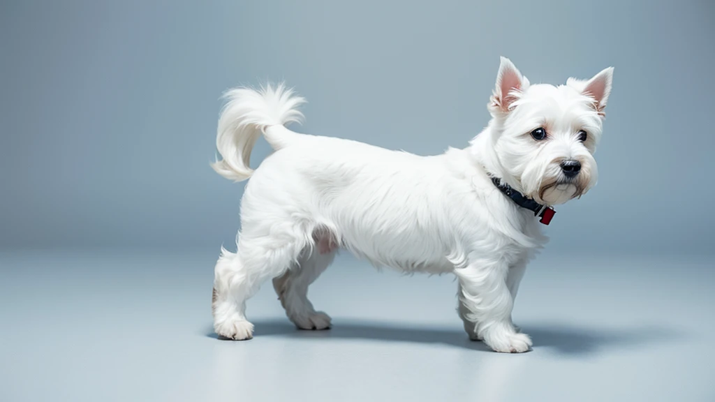
{"type": "Polygon", "coordinates": [[[240,182],[251,177],[251,150],[260,134],[264,134],[273,149],[285,147],[295,133],[282,127],[299,122],[303,114],[297,107],[305,99],[295,95],[285,84],[266,84],[260,89],[235,88],[224,95],[228,99],[221,112],[216,148],[222,160],[211,166],[219,175],[240,182]],[[267,127],[281,126],[281,129],[267,127]]]}

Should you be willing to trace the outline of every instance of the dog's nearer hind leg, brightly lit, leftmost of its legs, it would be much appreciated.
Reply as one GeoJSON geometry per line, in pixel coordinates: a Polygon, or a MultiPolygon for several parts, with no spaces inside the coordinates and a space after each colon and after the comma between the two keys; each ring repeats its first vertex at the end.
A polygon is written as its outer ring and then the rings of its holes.
{"type": "Polygon", "coordinates": [[[300,240],[281,242],[241,240],[237,253],[222,250],[216,263],[212,310],[214,329],[222,337],[250,339],[253,324],[245,316],[246,300],[265,280],[282,275],[295,263],[305,245],[300,240]]]}

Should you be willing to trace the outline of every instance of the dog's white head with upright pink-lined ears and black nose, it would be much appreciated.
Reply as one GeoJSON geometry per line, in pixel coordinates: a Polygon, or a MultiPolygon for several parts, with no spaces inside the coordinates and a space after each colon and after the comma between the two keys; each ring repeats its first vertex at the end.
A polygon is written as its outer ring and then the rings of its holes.
{"type": "Polygon", "coordinates": [[[531,85],[502,58],[488,107],[503,180],[546,205],[563,204],[590,190],[598,178],[593,152],[601,139],[612,77],[609,67],[586,81],[531,85]]]}

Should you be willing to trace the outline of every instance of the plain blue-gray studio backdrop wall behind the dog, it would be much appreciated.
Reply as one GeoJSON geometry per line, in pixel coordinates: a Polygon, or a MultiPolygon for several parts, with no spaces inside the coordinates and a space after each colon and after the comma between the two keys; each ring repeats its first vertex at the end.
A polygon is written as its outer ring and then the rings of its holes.
{"type": "Polygon", "coordinates": [[[285,79],[300,130],[427,155],[487,123],[504,55],[531,82],[616,67],[600,182],[552,250],[711,253],[714,3],[495,3],[1,1],[0,247],[230,245],[222,91],[285,79]]]}

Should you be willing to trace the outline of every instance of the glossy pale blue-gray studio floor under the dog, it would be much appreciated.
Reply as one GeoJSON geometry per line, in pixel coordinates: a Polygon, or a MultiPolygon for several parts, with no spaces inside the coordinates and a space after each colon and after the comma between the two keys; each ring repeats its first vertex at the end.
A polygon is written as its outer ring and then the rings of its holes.
{"type": "Polygon", "coordinates": [[[256,337],[212,334],[214,253],[0,254],[0,401],[715,401],[713,258],[543,255],[530,353],[470,342],[453,278],[340,258],[298,331],[270,285],[256,337]]]}

